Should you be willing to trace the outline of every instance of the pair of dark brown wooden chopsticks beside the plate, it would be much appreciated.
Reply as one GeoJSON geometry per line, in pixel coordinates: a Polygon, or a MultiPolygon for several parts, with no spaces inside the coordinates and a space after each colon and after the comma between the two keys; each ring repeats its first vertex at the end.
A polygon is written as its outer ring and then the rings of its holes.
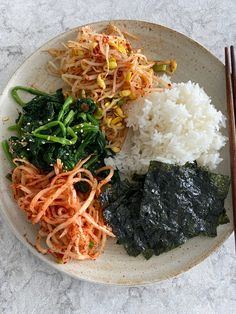
{"type": "Polygon", "coordinates": [[[230,144],[231,188],[233,203],[234,238],[236,248],[236,62],[234,47],[225,47],[225,78],[230,144]],[[230,66],[231,59],[231,66],[230,66]]]}

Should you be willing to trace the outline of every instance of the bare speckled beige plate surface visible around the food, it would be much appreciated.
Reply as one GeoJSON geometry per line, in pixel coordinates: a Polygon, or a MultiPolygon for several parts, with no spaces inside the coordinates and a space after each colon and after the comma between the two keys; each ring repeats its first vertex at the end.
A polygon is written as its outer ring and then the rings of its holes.
{"type": "MultiPolygon", "coordinates": [[[[101,31],[106,22],[91,24],[101,31]]],[[[142,47],[143,52],[152,59],[175,58],[178,63],[177,73],[173,81],[198,82],[212,97],[215,106],[226,114],[224,65],[209,51],[190,38],[163,26],[142,21],[113,21],[122,30],[136,35],[139,40],[133,45],[142,47]]],[[[17,106],[10,97],[10,89],[15,85],[30,85],[34,83],[39,89],[48,92],[61,87],[59,79],[51,77],[46,72],[49,56],[45,52],[50,47],[59,46],[61,42],[74,39],[79,28],[63,33],[47,42],[34,52],[15,72],[2,95],[0,96],[0,137],[8,138],[7,127],[14,123],[17,117],[17,106]],[[9,117],[7,121],[6,117],[9,117]]],[[[225,131],[226,132],[226,131],[225,131]]],[[[224,161],[217,171],[229,174],[228,147],[222,150],[224,161]]],[[[109,240],[104,254],[96,261],[70,262],[57,264],[50,256],[39,254],[30,244],[34,243],[36,227],[27,222],[24,214],[16,206],[9,181],[5,175],[9,172],[9,163],[2,150],[0,152],[0,207],[2,215],[19,240],[29,250],[50,264],[52,267],[78,279],[91,282],[117,285],[143,285],[154,283],[176,276],[197,265],[214,252],[233,230],[232,223],[220,226],[215,238],[197,237],[189,240],[183,246],[168,253],[155,256],[146,261],[143,257],[128,256],[123,247],[109,240]]],[[[228,195],[225,206],[232,222],[231,195],[228,195]]],[[[7,256],[6,256],[7,258],[7,256]]]]}

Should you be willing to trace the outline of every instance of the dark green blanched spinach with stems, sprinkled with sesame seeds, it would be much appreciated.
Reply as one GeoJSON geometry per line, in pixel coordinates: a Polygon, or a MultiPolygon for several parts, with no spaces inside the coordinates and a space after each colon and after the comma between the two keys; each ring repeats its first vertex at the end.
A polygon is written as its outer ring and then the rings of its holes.
{"type": "Polygon", "coordinates": [[[12,96],[22,106],[16,125],[10,127],[17,136],[10,137],[5,145],[12,158],[26,158],[43,171],[49,171],[57,159],[65,169],[72,169],[89,154],[94,154],[88,163],[90,170],[103,165],[110,151],[94,116],[96,104],[92,99],[74,101],[72,97],[64,99],[61,89],[49,95],[21,86],[12,90],[12,96]],[[24,102],[18,90],[36,96],[24,102]]]}

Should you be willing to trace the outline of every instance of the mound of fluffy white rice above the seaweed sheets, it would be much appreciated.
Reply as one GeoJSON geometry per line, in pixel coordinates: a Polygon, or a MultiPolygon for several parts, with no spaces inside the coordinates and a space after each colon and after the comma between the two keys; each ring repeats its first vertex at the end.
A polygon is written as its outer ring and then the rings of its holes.
{"type": "Polygon", "coordinates": [[[106,163],[122,173],[143,174],[150,160],[184,165],[194,160],[216,168],[225,145],[220,128],[225,117],[198,84],[173,84],[171,90],[152,93],[127,110],[130,128],[120,153],[106,163]]]}

